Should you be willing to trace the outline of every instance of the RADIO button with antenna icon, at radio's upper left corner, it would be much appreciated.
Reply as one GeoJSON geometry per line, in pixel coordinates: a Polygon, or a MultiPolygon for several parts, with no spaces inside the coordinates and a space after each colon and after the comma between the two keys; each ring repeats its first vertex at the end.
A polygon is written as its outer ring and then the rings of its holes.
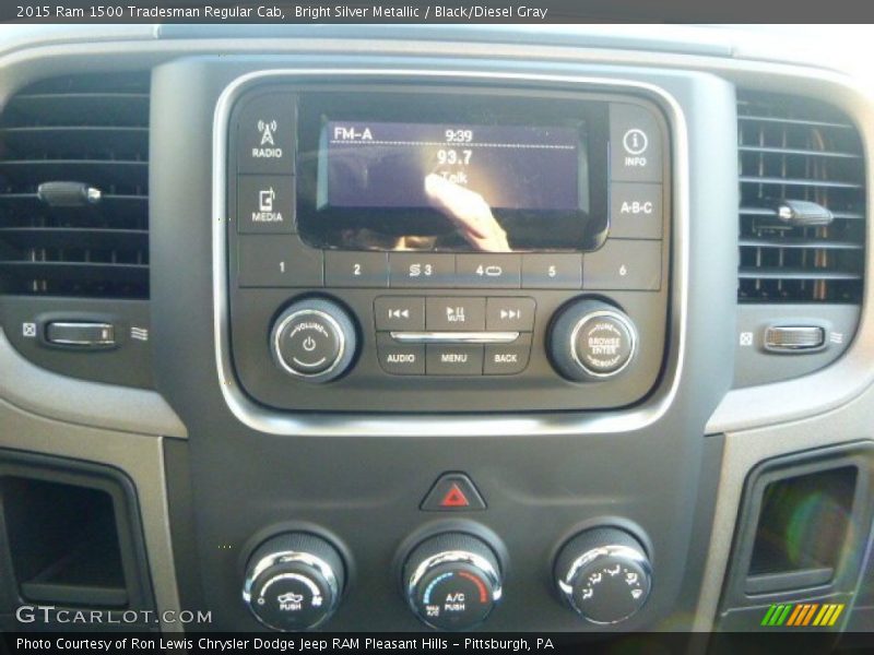
{"type": "Polygon", "coordinates": [[[237,171],[294,174],[295,99],[275,93],[246,103],[237,121],[237,171]]]}

